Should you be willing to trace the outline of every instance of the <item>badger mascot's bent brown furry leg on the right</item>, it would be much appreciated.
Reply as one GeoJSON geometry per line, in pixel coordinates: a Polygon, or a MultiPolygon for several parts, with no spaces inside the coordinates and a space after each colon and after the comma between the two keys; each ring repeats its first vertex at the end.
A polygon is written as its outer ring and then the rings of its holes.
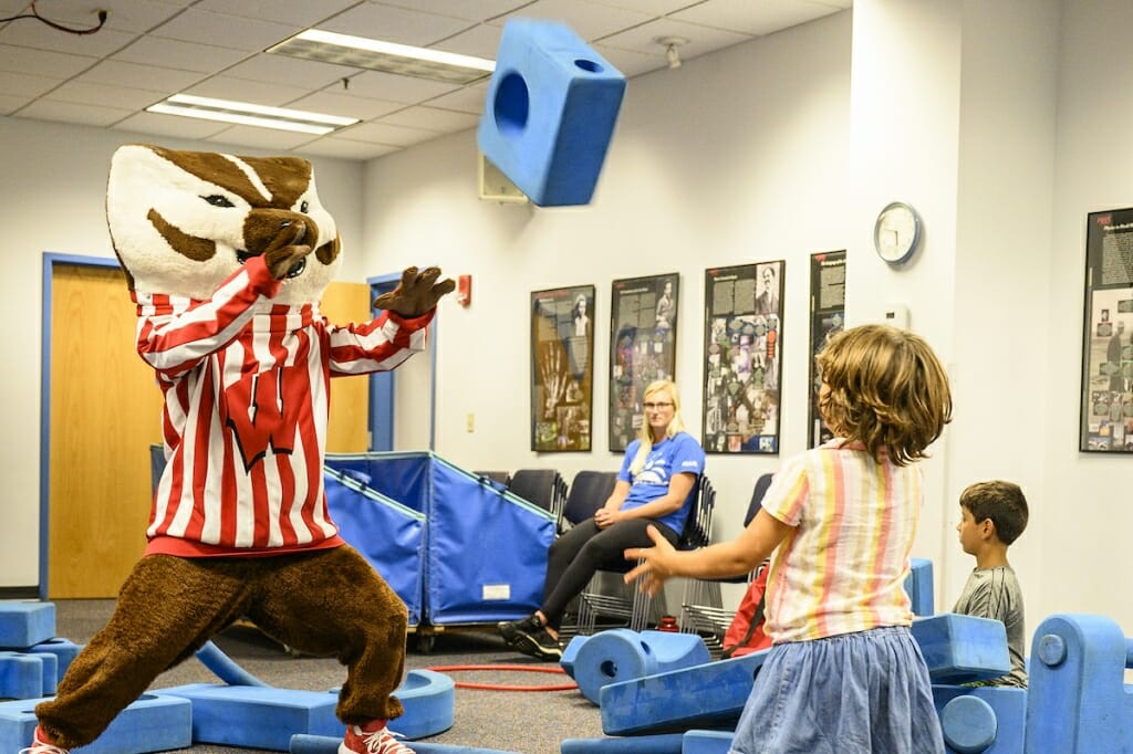
{"type": "Polygon", "coordinates": [[[337,710],[346,725],[400,716],[391,694],[406,667],[404,602],[352,547],[289,560],[258,580],[248,616],[283,644],[347,666],[337,710]]]}

